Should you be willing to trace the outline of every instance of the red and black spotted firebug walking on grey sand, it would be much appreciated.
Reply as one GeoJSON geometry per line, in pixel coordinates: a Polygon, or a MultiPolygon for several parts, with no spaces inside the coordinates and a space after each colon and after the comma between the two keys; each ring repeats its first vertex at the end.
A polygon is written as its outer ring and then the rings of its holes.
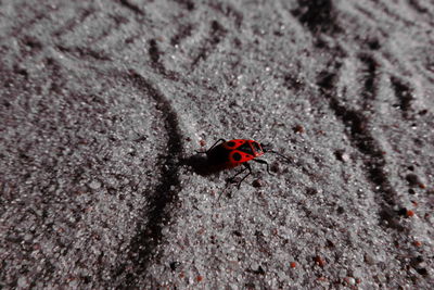
{"type": "Polygon", "coordinates": [[[247,139],[233,139],[230,141],[219,139],[207,151],[197,153],[205,153],[207,156],[208,166],[214,167],[214,169],[229,169],[239,165],[243,165],[245,168],[238,172],[229,179],[229,181],[232,182],[237,176],[245,171],[248,171],[248,173],[238,182],[238,188],[240,188],[241,182],[252,174],[252,167],[247,163],[248,161],[252,160],[254,162],[267,165],[267,173],[270,175],[272,174],[270,173],[268,163],[265,160],[257,159],[258,156],[261,156],[265,153],[275,153],[288,161],[291,161],[289,157],[270,150],[270,146],[261,144],[254,140],[247,139]]]}

